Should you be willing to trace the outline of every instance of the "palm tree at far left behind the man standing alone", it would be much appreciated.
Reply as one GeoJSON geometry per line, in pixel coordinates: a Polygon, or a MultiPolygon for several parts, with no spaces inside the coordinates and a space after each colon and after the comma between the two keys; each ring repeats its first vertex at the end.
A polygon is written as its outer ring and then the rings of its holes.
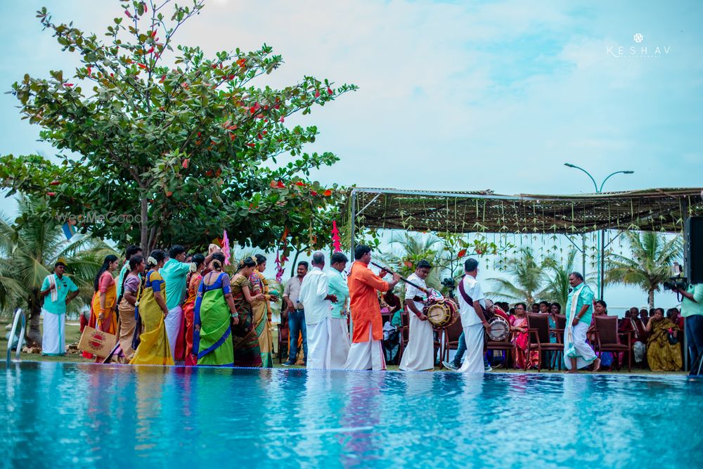
{"type": "Polygon", "coordinates": [[[0,217],[0,307],[3,311],[21,307],[27,311],[30,327],[27,343],[41,345],[39,316],[44,300],[39,290],[58,259],[65,259],[66,273],[80,289],[69,312],[90,302],[93,278],[105,255],[115,254],[108,245],[89,235],[77,234],[66,240],[56,219],[44,212],[41,203],[18,198],[20,223],[0,217]]]}

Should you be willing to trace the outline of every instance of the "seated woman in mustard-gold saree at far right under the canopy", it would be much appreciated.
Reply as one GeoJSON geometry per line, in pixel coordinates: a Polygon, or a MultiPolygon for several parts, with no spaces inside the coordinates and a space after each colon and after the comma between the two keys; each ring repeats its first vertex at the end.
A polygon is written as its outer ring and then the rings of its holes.
{"type": "Polygon", "coordinates": [[[652,371],[678,371],[683,366],[681,329],[664,317],[664,309],[654,309],[654,316],[647,322],[647,361],[652,371]],[[673,343],[671,343],[673,342],[673,343]]]}

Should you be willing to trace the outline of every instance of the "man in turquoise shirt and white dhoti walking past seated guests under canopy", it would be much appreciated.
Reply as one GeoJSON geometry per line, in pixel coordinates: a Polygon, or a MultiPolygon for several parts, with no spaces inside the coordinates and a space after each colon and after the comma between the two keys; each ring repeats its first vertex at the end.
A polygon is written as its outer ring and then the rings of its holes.
{"type": "Polygon", "coordinates": [[[583,283],[579,272],[569,274],[572,286],[567,300],[567,330],[564,331],[564,364],[567,373],[578,373],[579,368],[593,364],[593,371],[600,368],[600,359],[586,343],[586,333],[593,316],[593,291],[583,283]]]}

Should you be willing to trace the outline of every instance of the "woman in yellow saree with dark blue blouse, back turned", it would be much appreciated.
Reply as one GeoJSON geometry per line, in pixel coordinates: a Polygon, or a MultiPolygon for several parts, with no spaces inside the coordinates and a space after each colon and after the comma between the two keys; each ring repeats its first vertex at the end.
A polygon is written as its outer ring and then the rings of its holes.
{"type": "Polygon", "coordinates": [[[166,336],[164,318],[166,307],[166,282],[159,269],[166,262],[166,252],[153,250],[146,260],[147,273],[137,295],[137,304],[143,332],[130,365],[173,365],[174,359],[166,336]]]}

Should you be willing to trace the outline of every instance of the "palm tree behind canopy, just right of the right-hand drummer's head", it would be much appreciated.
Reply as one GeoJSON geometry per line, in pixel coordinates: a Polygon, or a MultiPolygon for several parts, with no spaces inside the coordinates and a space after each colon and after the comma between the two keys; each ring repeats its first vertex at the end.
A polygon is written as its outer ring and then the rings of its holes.
{"type": "Polygon", "coordinates": [[[489,278],[489,281],[494,282],[496,291],[486,293],[506,300],[534,303],[546,280],[544,271],[549,262],[538,264],[532,248],[524,247],[520,248],[515,257],[508,260],[508,264],[510,266],[506,272],[515,278],[515,283],[508,278],[489,278]]]}

